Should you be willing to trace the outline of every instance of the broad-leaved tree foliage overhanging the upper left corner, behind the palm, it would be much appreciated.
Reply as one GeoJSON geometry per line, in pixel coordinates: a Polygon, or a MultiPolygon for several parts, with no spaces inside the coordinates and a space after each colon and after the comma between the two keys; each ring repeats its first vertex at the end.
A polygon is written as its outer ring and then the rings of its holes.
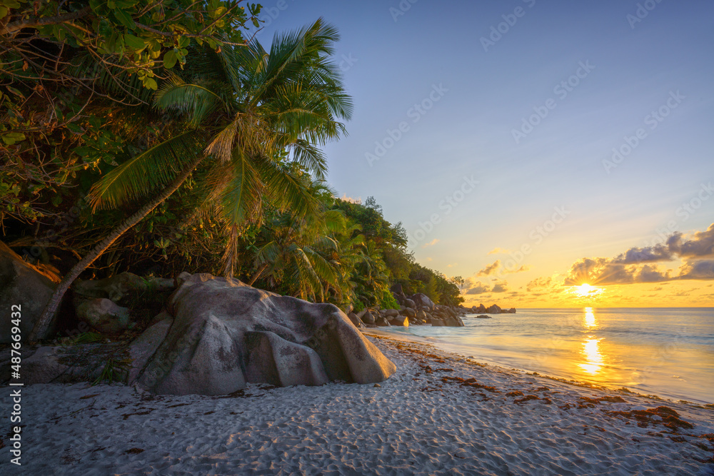
{"type": "Polygon", "coordinates": [[[87,173],[170,137],[151,92],[192,47],[243,44],[261,9],[243,3],[1,1],[0,224],[57,218],[59,196],[87,173]]]}

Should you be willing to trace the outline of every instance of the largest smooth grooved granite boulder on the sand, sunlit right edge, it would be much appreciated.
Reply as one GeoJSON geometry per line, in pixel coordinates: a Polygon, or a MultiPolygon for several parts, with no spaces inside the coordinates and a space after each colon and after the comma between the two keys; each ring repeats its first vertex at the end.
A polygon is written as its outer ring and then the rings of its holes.
{"type": "Polygon", "coordinates": [[[231,278],[184,277],[174,322],[136,378],[160,394],[223,395],[246,383],[376,383],[396,367],[331,304],[312,304],[231,278]]]}

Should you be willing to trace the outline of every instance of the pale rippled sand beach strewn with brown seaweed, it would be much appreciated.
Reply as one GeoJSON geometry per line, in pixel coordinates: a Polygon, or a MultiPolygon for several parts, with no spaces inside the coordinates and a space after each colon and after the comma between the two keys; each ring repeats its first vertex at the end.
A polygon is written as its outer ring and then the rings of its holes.
{"type": "Polygon", "coordinates": [[[397,365],[381,386],[250,385],[223,397],[23,388],[22,467],[9,462],[2,435],[0,473],[714,474],[712,405],[573,385],[366,334],[397,365]]]}

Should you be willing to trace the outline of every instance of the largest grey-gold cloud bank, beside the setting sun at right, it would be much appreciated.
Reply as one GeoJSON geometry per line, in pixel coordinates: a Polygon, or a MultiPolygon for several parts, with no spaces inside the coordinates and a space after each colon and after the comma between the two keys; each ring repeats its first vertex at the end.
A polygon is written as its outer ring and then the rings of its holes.
{"type": "Polygon", "coordinates": [[[663,283],[673,280],[714,280],[714,223],[706,231],[685,237],[675,232],[664,244],[630,248],[615,258],[583,258],[576,261],[565,285],[663,283]],[[678,272],[663,270],[655,263],[683,259],[678,272]]]}

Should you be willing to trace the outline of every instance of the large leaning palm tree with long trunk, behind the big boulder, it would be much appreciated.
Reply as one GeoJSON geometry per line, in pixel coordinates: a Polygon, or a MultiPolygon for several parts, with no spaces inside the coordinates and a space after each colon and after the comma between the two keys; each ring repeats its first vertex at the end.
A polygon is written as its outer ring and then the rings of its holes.
{"type": "Polygon", "coordinates": [[[90,199],[94,208],[116,208],[161,192],[67,273],[29,340],[44,335],[82,271],[171,196],[205,158],[210,163],[201,208],[221,211],[230,238],[223,256],[227,275],[235,269],[241,227],[260,221],[265,201],[298,214],[316,207],[290,162],[323,178],[326,159],[318,147],[345,133],[338,119],[350,118],[352,103],[330,59],[337,40],[336,29],[319,19],[276,36],[269,54],[257,41],[219,53],[204,45],[191,56],[186,74],[170,76],[157,91],[156,106],[180,112],[186,131],[108,173],[92,188],[90,199]]]}

